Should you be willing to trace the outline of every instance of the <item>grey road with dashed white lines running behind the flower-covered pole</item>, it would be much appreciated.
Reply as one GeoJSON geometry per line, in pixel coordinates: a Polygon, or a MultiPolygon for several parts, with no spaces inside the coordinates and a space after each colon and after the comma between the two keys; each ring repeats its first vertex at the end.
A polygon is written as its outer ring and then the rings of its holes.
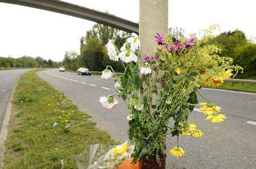
{"type": "MultiPolygon", "coordinates": [[[[98,128],[105,130],[117,141],[126,141],[127,107],[120,99],[116,108],[107,111],[98,102],[100,96],[113,94],[114,79],[99,76],[78,76],[75,73],[59,73],[56,69],[40,71],[57,90],[72,99],[81,111],[92,116],[98,128]]],[[[192,112],[191,120],[204,131],[202,138],[181,136],[180,146],[184,158],[167,158],[167,168],[255,168],[256,167],[256,94],[202,88],[202,94],[222,107],[227,116],[221,124],[205,121],[198,109],[192,112]]],[[[204,101],[199,97],[200,101],[204,101]]],[[[176,145],[176,137],[168,136],[167,149],[176,145]]]]}

